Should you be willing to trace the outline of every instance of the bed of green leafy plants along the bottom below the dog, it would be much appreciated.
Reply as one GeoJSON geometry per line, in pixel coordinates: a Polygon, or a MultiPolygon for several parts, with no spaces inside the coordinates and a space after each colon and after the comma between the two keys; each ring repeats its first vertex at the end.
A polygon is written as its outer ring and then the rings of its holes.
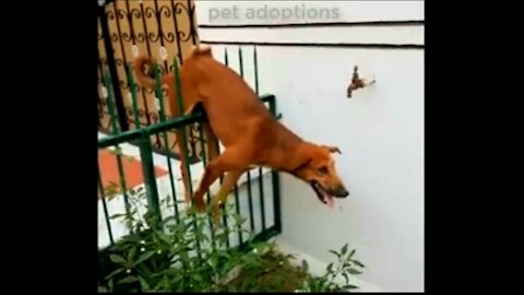
{"type": "MultiPolygon", "coordinates": [[[[357,274],[354,266],[361,264],[345,245],[341,252],[332,251],[338,264],[330,264],[326,275],[313,278],[274,244],[254,240],[253,233],[242,228],[246,219],[233,205],[224,214],[234,222],[211,233],[209,213],[187,209],[160,222],[147,210],[145,199],[143,189],[130,190],[129,213],[111,216],[124,222],[131,234],[100,252],[100,292],[333,292],[352,290],[347,280],[346,286],[338,287],[334,279],[357,274]],[[145,213],[139,214],[140,206],[145,213]],[[238,233],[249,236],[245,246],[228,247],[229,237],[238,233]]],[[[160,205],[172,208],[171,198],[160,205]]]]}

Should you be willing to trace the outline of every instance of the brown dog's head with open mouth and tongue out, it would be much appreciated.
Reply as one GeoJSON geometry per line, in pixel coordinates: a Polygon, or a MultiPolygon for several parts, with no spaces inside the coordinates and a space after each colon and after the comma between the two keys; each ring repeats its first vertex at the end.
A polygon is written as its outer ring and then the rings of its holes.
{"type": "Polygon", "coordinates": [[[307,144],[297,153],[297,166],[289,173],[308,182],[319,200],[333,208],[334,198],[349,196],[338,177],[332,153],[342,153],[336,146],[307,144]]]}

